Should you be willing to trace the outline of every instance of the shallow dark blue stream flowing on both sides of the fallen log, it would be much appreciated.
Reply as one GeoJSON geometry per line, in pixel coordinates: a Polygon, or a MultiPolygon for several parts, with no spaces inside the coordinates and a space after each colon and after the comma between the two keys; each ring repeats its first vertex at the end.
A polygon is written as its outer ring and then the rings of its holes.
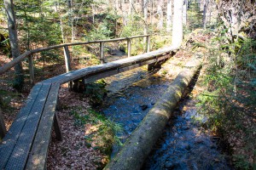
{"type": "MultiPolygon", "coordinates": [[[[171,83],[148,72],[146,67],[108,77],[106,82],[108,96],[102,112],[124,128],[117,134],[122,143],[171,83]]],[[[231,169],[218,150],[217,139],[198,123],[197,120],[203,122],[206,118],[196,112],[195,100],[183,99],[176,110],[142,169],[231,169]]],[[[119,149],[120,146],[113,146],[112,157],[119,149]]]]}

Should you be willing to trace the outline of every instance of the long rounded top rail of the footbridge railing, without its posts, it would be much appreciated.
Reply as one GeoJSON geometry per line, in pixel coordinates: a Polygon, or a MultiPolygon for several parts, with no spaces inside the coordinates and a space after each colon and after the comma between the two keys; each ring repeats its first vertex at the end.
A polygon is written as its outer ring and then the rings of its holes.
{"type": "Polygon", "coordinates": [[[134,37],[119,37],[115,39],[109,39],[109,40],[96,40],[96,41],[89,41],[89,42],[73,42],[73,43],[64,43],[60,45],[55,45],[55,46],[49,46],[47,48],[37,48],[33,49],[31,51],[26,51],[23,54],[20,54],[16,59],[11,60],[9,63],[3,65],[0,67],[0,75],[2,75],[5,71],[8,71],[10,68],[14,67],[18,63],[20,63],[23,59],[28,57],[29,55],[36,54],[42,51],[47,51],[50,49],[55,49],[55,48],[65,48],[68,46],[76,46],[76,45],[86,45],[86,44],[91,44],[91,43],[102,43],[102,42],[118,42],[122,40],[131,40],[133,38],[138,38],[138,37],[149,37],[150,35],[141,35],[141,36],[134,36],[134,37]]]}

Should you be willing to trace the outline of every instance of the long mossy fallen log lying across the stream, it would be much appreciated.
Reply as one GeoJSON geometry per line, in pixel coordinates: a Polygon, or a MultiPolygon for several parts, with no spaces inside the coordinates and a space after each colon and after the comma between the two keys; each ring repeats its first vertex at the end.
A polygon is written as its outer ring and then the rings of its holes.
{"type": "Polygon", "coordinates": [[[104,168],[119,170],[136,170],[143,166],[157,139],[160,138],[166,123],[173,114],[178,101],[182,98],[195,74],[200,71],[201,62],[191,60],[172,82],[166,93],[144,117],[143,122],[126,140],[123,148],[104,168]]]}

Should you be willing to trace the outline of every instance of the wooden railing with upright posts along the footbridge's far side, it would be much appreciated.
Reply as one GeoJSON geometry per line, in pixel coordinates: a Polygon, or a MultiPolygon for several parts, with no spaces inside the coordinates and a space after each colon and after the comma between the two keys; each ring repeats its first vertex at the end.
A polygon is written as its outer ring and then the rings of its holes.
{"type": "Polygon", "coordinates": [[[51,49],[56,48],[64,48],[64,57],[65,57],[65,65],[66,65],[66,71],[71,71],[71,60],[70,60],[70,53],[68,50],[69,46],[77,46],[77,45],[86,45],[91,43],[100,43],[100,56],[103,63],[104,60],[104,43],[106,42],[119,42],[119,41],[127,41],[127,51],[128,51],[128,57],[131,57],[131,39],[139,38],[139,37],[146,37],[146,52],[148,53],[150,51],[150,35],[141,35],[141,36],[134,36],[134,37],[120,37],[115,39],[109,39],[109,40],[96,40],[96,41],[89,41],[89,42],[73,42],[73,43],[65,43],[55,46],[50,46],[47,48],[37,48],[33,49],[31,51],[26,51],[23,54],[20,54],[17,58],[13,59],[6,65],[3,65],[0,67],[0,75],[2,75],[4,72],[8,71],[10,68],[14,67],[18,63],[20,63],[23,59],[28,58],[29,62],[29,74],[30,74],[30,82],[32,84],[35,83],[35,77],[34,77],[34,65],[33,65],[33,59],[32,54],[40,53],[43,51],[48,51],[51,49]]]}

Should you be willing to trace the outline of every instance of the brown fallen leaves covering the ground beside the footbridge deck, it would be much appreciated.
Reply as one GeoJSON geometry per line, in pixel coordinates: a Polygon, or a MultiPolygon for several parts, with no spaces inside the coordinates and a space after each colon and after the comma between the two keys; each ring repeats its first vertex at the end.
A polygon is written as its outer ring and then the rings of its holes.
{"type": "Polygon", "coordinates": [[[84,126],[75,126],[74,118],[69,114],[72,107],[79,106],[86,111],[89,107],[87,99],[69,92],[67,88],[61,88],[60,100],[64,109],[58,111],[57,114],[63,140],[57,141],[55,133],[52,133],[47,169],[97,169],[102,162],[108,161],[108,156],[103,156],[99,150],[88,147],[84,139],[84,126]]]}

